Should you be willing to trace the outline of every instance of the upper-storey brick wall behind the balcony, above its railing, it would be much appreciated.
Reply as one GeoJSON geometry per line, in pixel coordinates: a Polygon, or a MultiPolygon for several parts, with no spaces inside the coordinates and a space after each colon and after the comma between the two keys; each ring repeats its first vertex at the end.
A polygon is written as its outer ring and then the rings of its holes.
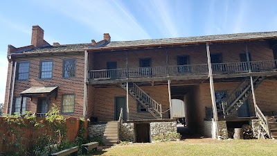
{"type": "MultiPolygon", "coordinates": [[[[274,60],[273,51],[268,42],[249,42],[248,51],[252,61],[274,60]]],[[[152,58],[152,67],[166,66],[166,51],[168,51],[168,65],[177,65],[178,55],[189,55],[190,64],[206,64],[206,45],[174,47],[168,49],[145,49],[128,51],[101,51],[93,53],[93,69],[107,69],[107,62],[117,62],[118,68],[126,67],[126,53],[128,67],[139,67],[139,58],[152,58]],[[104,60],[104,61],[103,61],[104,60]]],[[[244,43],[212,44],[211,53],[222,53],[222,62],[240,62],[240,53],[246,53],[244,43]]]]}

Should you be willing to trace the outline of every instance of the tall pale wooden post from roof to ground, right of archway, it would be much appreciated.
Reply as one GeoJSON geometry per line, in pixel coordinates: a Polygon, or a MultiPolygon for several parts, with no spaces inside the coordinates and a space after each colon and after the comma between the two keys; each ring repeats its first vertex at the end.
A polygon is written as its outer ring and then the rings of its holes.
{"type": "Polygon", "coordinates": [[[212,105],[213,105],[213,118],[215,119],[215,129],[216,129],[216,136],[217,138],[220,137],[220,130],[218,128],[218,116],[217,116],[217,107],[215,103],[215,88],[213,86],[213,71],[211,66],[211,55],[210,55],[210,46],[208,42],[206,42],[206,51],[207,51],[207,58],[208,58],[208,76],[210,77],[210,89],[211,89],[211,98],[212,98],[212,105]]]}

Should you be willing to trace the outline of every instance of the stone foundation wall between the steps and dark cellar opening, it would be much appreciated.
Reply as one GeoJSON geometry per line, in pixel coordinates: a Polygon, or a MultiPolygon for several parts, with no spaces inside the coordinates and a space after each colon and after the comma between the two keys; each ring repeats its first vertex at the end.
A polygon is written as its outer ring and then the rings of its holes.
{"type": "Polygon", "coordinates": [[[134,123],[123,123],[119,129],[120,141],[134,142],[134,123]]]}

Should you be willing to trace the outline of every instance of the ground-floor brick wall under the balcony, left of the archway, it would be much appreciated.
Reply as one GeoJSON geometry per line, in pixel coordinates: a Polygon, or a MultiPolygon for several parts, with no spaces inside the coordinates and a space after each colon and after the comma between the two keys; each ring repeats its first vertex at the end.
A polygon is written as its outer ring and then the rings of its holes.
{"type": "MultiPolygon", "coordinates": [[[[160,103],[163,111],[169,109],[167,85],[141,87],[141,89],[150,94],[157,103],[160,103]]],[[[92,116],[98,117],[98,121],[113,121],[115,114],[115,97],[126,97],[125,90],[120,87],[107,87],[94,88],[93,91],[94,94],[89,94],[94,98],[94,102],[89,103],[89,112],[93,112],[91,113],[92,116]],[[91,103],[93,103],[92,107],[91,103]]],[[[163,114],[163,118],[169,118],[168,112],[163,114]]],[[[132,96],[129,96],[129,119],[154,119],[154,117],[149,112],[138,112],[137,102],[132,96]]]]}

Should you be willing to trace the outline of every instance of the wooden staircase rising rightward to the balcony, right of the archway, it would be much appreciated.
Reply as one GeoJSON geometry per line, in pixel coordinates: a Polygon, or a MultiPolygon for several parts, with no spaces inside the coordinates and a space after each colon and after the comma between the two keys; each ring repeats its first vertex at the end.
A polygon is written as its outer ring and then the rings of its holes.
{"type": "MultiPolygon", "coordinates": [[[[253,77],[254,89],[262,83],[265,77],[253,77]]],[[[230,94],[229,98],[222,102],[222,110],[225,117],[232,116],[242,106],[251,94],[250,78],[245,78],[242,83],[230,94]]]]}

